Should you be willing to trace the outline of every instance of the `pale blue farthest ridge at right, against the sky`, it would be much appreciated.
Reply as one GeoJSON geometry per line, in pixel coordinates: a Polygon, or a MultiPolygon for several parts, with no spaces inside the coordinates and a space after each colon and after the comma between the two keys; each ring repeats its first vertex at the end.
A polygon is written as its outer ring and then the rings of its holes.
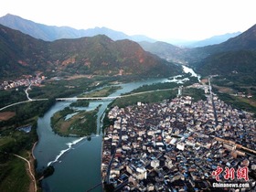
{"type": "Polygon", "coordinates": [[[216,45],[216,44],[219,44],[219,43],[227,41],[231,37],[237,37],[240,34],[241,34],[240,32],[227,33],[227,34],[220,35],[220,36],[209,37],[209,38],[206,38],[204,40],[193,42],[191,44],[188,43],[188,44],[185,44],[183,46],[187,46],[188,48],[198,48],[198,47],[205,47],[205,46],[210,46],[210,45],[216,45]]]}

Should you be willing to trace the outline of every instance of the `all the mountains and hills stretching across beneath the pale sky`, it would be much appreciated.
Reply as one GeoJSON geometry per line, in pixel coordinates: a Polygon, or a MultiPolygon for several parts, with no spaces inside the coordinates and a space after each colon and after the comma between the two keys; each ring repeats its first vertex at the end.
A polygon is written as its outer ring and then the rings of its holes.
{"type": "Polygon", "coordinates": [[[124,70],[124,74],[144,75],[166,75],[170,71],[176,71],[176,65],[162,60],[165,59],[188,64],[202,75],[241,74],[255,79],[256,25],[243,33],[211,37],[194,43],[193,46],[198,48],[179,48],[144,36],[130,37],[106,27],[87,30],[49,27],[9,14],[0,17],[0,24],[6,26],[1,27],[0,37],[0,73],[5,74],[5,77],[10,69],[19,73],[27,69],[40,69],[61,71],[63,74],[105,75],[117,74],[121,70],[124,70]],[[99,34],[105,36],[97,36],[99,34]],[[162,71],[163,66],[171,66],[173,70],[162,71]]]}

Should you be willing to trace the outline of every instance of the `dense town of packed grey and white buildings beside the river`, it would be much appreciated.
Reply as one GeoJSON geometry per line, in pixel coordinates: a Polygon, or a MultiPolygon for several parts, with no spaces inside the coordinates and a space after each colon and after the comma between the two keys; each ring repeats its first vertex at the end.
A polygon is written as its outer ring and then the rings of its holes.
{"type": "Polygon", "coordinates": [[[216,95],[138,102],[108,117],[114,123],[103,137],[101,175],[115,191],[255,188],[256,121],[216,95]]]}

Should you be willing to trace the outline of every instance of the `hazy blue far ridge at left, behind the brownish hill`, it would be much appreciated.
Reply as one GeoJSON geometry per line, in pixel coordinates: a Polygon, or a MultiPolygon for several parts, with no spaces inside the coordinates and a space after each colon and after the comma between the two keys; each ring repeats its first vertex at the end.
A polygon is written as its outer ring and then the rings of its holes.
{"type": "Polygon", "coordinates": [[[21,31],[31,37],[40,38],[45,41],[53,41],[60,38],[79,38],[106,35],[113,40],[130,39],[133,41],[146,40],[155,42],[154,39],[145,36],[128,36],[120,31],[115,31],[107,27],[95,27],[89,29],[75,29],[72,27],[55,27],[37,24],[20,16],[7,14],[0,17],[0,24],[21,31]]]}

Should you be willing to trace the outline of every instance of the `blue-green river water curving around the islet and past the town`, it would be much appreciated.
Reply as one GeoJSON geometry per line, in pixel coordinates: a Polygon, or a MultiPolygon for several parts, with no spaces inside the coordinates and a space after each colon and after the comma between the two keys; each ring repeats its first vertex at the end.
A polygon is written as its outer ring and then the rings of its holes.
{"type": "MultiPolygon", "coordinates": [[[[185,72],[190,72],[187,67],[185,72]]],[[[194,72],[194,71],[193,71],[194,72]]],[[[194,73],[193,73],[194,75],[194,73]]],[[[122,86],[110,96],[122,93],[157,82],[170,81],[168,79],[150,79],[131,83],[119,84],[122,86]]],[[[91,135],[89,141],[86,137],[61,137],[52,131],[50,117],[70,102],[59,101],[37,121],[38,143],[34,150],[37,158],[37,170],[53,165],[55,172],[42,181],[43,191],[51,192],[84,192],[101,183],[101,115],[111,101],[91,101],[90,105],[80,110],[93,110],[101,105],[97,119],[97,134],[91,135]]],[[[91,191],[102,191],[101,186],[91,191]]]]}

